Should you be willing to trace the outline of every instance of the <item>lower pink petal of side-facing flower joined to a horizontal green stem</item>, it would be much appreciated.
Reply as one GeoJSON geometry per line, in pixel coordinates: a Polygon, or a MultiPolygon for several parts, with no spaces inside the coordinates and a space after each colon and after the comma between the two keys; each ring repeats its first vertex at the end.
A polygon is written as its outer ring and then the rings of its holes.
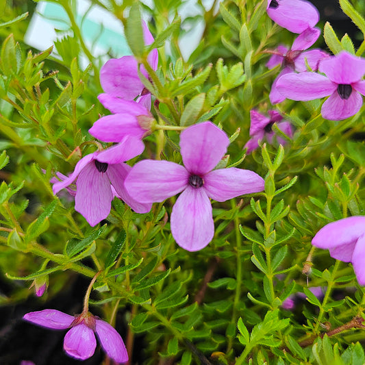
{"type": "Polygon", "coordinates": [[[132,114],[113,114],[101,117],[89,129],[89,133],[103,142],[121,142],[125,136],[142,139],[146,131],[132,114]]]}

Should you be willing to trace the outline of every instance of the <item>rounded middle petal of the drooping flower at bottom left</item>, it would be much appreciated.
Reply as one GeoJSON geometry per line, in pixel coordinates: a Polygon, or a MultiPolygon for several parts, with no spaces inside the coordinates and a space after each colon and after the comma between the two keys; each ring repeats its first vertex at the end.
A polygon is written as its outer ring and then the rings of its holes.
{"type": "Polygon", "coordinates": [[[94,355],[97,340],[92,329],[81,323],[72,327],[64,336],[64,351],[75,359],[86,360],[94,355]]]}

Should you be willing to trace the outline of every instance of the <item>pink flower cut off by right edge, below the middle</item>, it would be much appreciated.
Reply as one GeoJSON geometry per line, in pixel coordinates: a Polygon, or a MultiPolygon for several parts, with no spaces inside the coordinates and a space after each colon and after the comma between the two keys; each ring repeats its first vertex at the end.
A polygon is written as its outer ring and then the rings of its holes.
{"type": "Polygon", "coordinates": [[[312,244],[328,249],[336,260],[351,262],[357,281],[365,286],[365,216],[351,216],[325,225],[312,244]]]}

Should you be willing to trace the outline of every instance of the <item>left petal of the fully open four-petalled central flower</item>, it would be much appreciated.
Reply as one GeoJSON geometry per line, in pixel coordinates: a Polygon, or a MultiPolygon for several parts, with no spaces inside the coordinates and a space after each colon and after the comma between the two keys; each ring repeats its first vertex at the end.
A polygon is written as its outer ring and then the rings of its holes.
{"type": "Polygon", "coordinates": [[[188,179],[184,166],[169,161],[143,160],[131,169],[125,188],[140,203],[155,203],[184,190],[188,179]]]}

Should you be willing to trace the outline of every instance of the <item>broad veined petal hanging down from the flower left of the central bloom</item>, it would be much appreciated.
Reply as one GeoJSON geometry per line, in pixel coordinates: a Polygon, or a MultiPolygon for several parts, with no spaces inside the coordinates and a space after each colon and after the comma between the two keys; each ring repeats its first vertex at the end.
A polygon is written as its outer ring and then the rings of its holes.
{"type": "Polygon", "coordinates": [[[76,186],[75,210],[94,227],[108,216],[112,207],[109,178],[100,173],[92,162],[81,171],[76,186]]]}

